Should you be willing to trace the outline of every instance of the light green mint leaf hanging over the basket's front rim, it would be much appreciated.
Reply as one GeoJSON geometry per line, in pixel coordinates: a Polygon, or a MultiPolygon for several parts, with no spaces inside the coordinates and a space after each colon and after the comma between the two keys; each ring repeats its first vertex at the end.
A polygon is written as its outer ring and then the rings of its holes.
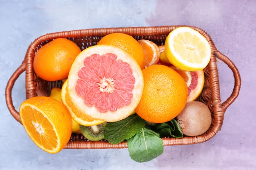
{"type": "Polygon", "coordinates": [[[127,145],[131,159],[137,162],[150,161],[163,153],[163,140],[146,127],[128,139],[127,145]]]}

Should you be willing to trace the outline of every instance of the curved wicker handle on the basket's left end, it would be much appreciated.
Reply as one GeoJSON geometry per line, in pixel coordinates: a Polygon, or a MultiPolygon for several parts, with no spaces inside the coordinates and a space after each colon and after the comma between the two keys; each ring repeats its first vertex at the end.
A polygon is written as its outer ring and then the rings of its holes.
{"type": "Polygon", "coordinates": [[[19,112],[17,112],[15,110],[15,107],[12,103],[12,88],[14,86],[15,81],[17,80],[17,78],[20,76],[20,74],[22,74],[24,71],[26,70],[26,62],[23,62],[20,67],[17,68],[17,70],[12,74],[12,76],[10,77],[7,85],[6,85],[6,104],[7,104],[7,108],[9,109],[10,113],[12,114],[12,116],[21,123],[20,120],[20,114],[19,112]]]}

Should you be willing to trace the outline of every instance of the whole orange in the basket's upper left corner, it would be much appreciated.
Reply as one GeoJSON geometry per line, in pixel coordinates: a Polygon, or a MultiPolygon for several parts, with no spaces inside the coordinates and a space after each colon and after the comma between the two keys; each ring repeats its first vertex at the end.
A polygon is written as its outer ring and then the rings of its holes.
{"type": "Polygon", "coordinates": [[[65,38],[48,42],[35,54],[33,63],[35,73],[47,81],[65,79],[80,52],[80,48],[74,42],[65,38]]]}

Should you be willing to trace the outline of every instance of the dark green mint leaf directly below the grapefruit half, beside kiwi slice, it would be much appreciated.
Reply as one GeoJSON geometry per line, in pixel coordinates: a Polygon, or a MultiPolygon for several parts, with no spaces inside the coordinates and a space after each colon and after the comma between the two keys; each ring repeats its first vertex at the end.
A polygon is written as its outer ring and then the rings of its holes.
{"type": "Polygon", "coordinates": [[[104,129],[104,139],[111,144],[119,144],[131,138],[145,126],[145,120],[137,114],[129,116],[118,122],[108,122],[104,129]]]}

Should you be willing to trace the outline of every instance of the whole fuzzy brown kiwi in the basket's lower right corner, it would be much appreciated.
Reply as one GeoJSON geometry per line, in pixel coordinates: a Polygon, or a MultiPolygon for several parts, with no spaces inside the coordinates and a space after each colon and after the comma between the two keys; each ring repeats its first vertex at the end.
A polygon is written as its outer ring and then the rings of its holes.
{"type": "Polygon", "coordinates": [[[198,136],[205,133],[212,123],[211,112],[202,102],[187,102],[176,119],[182,133],[186,136],[198,136]]]}

